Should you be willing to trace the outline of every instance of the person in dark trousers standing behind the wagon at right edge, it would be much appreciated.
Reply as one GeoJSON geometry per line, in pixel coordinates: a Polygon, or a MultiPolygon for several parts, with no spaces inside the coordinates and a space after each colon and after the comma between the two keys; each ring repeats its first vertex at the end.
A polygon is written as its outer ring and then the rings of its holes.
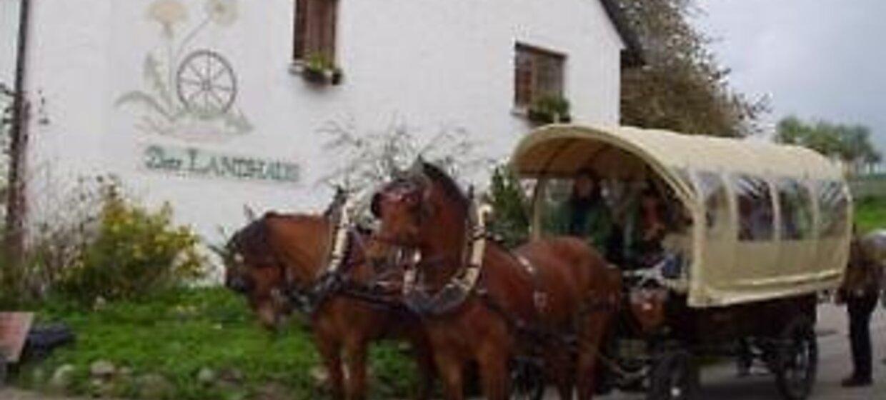
{"type": "Polygon", "coordinates": [[[883,235],[853,236],[849,265],[836,298],[838,304],[846,304],[849,313],[853,370],[843,380],[844,388],[870,386],[873,383],[870,323],[883,282],[883,258],[877,249],[886,245],[886,236],[883,235]]]}

